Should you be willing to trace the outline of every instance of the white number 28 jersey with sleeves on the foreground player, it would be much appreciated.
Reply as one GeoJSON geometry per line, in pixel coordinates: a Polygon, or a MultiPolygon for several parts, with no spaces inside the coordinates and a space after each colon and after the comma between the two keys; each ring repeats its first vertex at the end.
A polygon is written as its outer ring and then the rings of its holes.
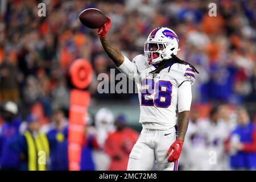
{"type": "Polygon", "coordinates": [[[141,108],[139,122],[144,128],[168,130],[177,123],[177,106],[179,112],[190,110],[195,73],[189,65],[175,63],[171,68],[168,65],[153,76],[150,72],[156,65],[149,65],[144,55],[138,55],[132,62],[125,57],[118,69],[137,84],[141,108]],[[185,92],[179,91],[181,84],[189,85],[185,92]]]}

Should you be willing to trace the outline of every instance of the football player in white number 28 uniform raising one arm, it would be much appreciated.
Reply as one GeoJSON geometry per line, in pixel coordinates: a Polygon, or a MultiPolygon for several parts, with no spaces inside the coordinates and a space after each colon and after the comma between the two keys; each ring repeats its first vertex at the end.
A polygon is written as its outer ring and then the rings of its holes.
{"type": "Polygon", "coordinates": [[[127,170],[148,171],[155,161],[159,170],[177,170],[197,70],[176,56],[179,38],[171,29],[155,28],[144,43],[144,55],[130,61],[110,43],[110,24],[108,18],[98,29],[101,44],[119,71],[135,80],[141,106],[139,122],[143,129],[131,151],[127,170]]]}

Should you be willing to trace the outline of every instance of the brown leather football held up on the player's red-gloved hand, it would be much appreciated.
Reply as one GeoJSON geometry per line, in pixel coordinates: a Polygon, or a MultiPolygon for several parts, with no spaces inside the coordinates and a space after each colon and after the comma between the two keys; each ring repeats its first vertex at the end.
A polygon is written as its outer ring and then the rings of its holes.
{"type": "Polygon", "coordinates": [[[107,21],[106,15],[101,10],[95,8],[82,11],[79,19],[84,26],[94,29],[102,27],[107,21]]]}

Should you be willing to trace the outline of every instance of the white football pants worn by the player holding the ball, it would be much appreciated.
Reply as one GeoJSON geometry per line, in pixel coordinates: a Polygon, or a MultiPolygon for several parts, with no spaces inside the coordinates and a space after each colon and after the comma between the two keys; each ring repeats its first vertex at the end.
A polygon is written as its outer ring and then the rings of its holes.
{"type": "Polygon", "coordinates": [[[154,163],[158,164],[158,170],[176,171],[178,160],[169,163],[166,155],[171,144],[176,140],[176,129],[168,130],[142,129],[139,139],[131,151],[127,170],[150,171],[154,163]]]}

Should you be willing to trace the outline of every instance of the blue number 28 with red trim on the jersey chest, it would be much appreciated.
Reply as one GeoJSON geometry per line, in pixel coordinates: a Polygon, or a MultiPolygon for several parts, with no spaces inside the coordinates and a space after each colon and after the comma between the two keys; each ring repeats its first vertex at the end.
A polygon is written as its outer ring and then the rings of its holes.
{"type": "Polygon", "coordinates": [[[142,106],[155,105],[156,107],[167,108],[171,105],[172,84],[170,81],[159,80],[155,84],[153,79],[144,78],[141,85],[146,86],[146,89],[143,89],[141,94],[142,106]],[[154,100],[147,99],[146,96],[150,96],[154,91],[154,100]]]}

